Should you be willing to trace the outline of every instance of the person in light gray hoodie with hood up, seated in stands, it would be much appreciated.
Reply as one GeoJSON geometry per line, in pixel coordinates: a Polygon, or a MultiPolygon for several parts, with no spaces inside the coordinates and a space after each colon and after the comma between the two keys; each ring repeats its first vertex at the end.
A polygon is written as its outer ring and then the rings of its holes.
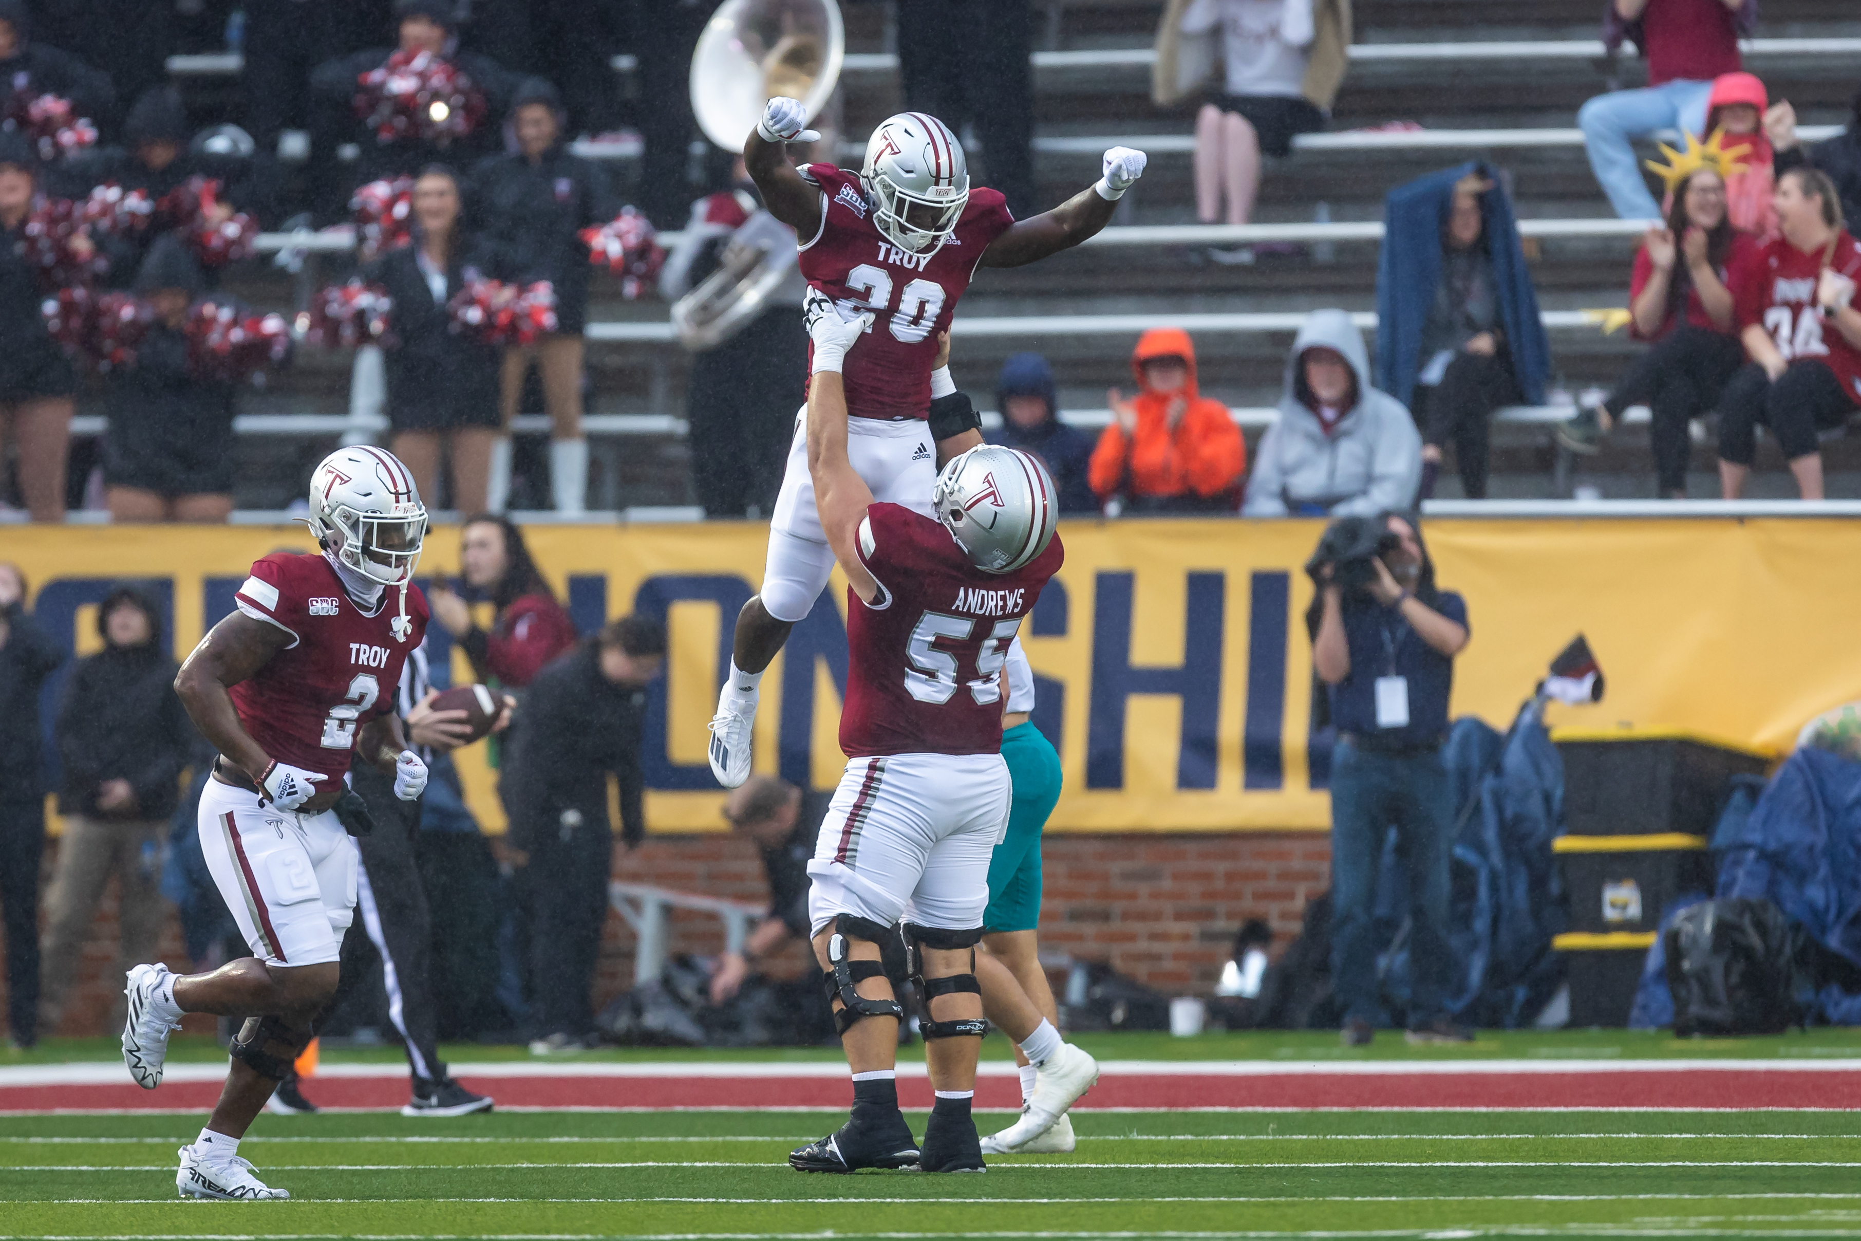
{"type": "Polygon", "coordinates": [[[1355,517],[1409,508],[1422,435],[1370,387],[1370,354],[1346,311],[1312,311],[1286,357],[1279,422],[1254,452],[1243,517],[1355,517]]]}

